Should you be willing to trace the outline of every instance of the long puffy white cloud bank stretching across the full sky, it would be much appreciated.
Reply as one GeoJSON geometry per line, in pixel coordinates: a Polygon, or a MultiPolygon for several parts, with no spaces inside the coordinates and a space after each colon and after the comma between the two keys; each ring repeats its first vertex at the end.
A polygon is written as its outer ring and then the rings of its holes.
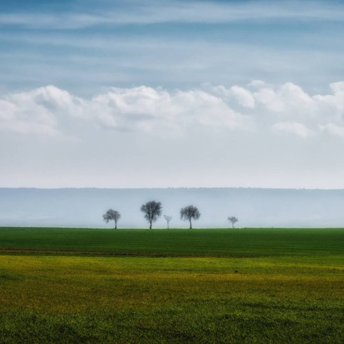
{"type": "Polygon", "coordinates": [[[81,127],[147,135],[187,135],[221,129],[313,138],[344,137],[344,82],[328,94],[310,95],[298,85],[203,85],[167,90],[118,88],[81,98],[54,86],[8,94],[0,99],[0,131],[47,137],[74,136],[81,127]]]}

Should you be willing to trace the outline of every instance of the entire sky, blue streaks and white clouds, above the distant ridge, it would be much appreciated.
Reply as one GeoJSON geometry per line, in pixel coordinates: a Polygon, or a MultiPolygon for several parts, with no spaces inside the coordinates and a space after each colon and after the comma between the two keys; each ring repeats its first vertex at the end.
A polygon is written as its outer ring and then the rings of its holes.
{"type": "Polygon", "coordinates": [[[0,1],[0,186],[344,188],[344,1],[0,1]]]}

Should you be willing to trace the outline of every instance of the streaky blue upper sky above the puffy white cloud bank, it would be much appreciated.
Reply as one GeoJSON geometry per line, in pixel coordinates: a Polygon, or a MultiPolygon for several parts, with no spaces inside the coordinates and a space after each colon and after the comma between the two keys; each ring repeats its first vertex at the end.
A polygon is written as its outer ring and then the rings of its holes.
{"type": "Polygon", "coordinates": [[[341,1],[2,1],[3,92],[343,78],[341,1]],[[85,80],[87,73],[87,80],[85,80]]]}

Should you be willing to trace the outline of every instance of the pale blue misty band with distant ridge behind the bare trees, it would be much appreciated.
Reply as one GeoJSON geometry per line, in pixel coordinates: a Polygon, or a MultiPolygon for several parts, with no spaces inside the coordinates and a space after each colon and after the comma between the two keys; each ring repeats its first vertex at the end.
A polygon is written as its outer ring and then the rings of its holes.
{"type": "MultiPolygon", "coordinates": [[[[162,202],[162,215],[172,215],[171,228],[187,228],[180,208],[193,204],[201,217],[195,228],[229,227],[341,227],[344,190],[296,189],[0,189],[0,226],[109,227],[103,214],[120,211],[119,228],[147,228],[140,206],[162,202]]],[[[160,217],[153,228],[166,227],[160,217]]]]}

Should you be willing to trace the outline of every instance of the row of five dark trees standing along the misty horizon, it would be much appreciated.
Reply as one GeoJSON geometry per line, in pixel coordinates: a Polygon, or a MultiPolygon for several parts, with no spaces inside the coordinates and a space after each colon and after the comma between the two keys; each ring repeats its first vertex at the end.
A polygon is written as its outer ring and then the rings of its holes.
{"type": "MultiPolygon", "coordinates": [[[[153,222],[155,222],[162,214],[162,204],[161,202],[149,201],[145,204],[142,204],[140,211],[142,211],[144,219],[147,220],[147,222],[149,223],[149,229],[151,229],[153,222]]],[[[183,221],[189,221],[190,229],[192,228],[192,220],[200,219],[200,216],[200,211],[196,206],[193,206],[192,204],[180,209],[180,219],[182,219],[183,221]]],[[[103,215],[103,220],[106,223],[109,223],[109,221],[114,221],[115,229],[117,229],[117,222],[120,217],[121,215],[119,211],[109,209],[103,215]]],[[[171,215],[164,215],[164,219],[166,220],[167,228],[169,228],[169,223],[171,222],[173,217],[171,215]]],[[[232,228],[234,228],[234,224],[238,222],[238,219],[235,216],[231,216],[228,217],[228,221],[232,224],[232,228]]]]}

